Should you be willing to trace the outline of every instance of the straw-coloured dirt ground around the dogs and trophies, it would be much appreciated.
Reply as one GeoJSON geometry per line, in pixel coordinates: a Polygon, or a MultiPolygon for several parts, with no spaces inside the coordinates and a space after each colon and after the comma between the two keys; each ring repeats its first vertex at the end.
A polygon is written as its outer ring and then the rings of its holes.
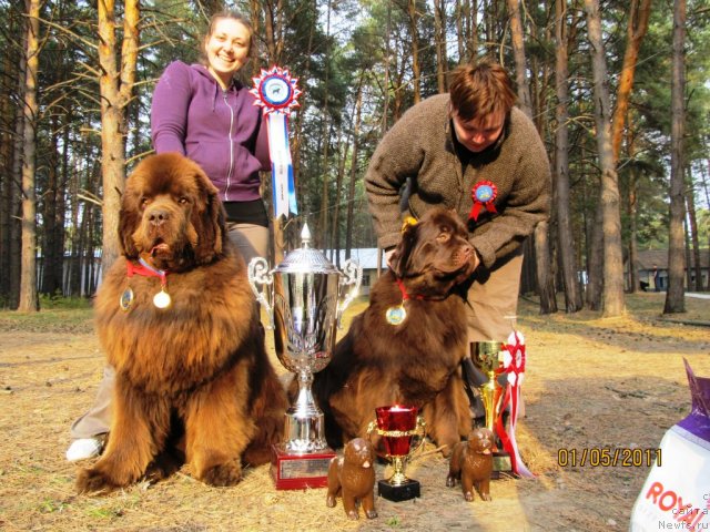
{"type": "MultiPolygon", "coordinates": [[[[609,319],[539,316],[535,301],[523,299],[527,416],[517,432],[537,479],[494,481],[493,502],[469,503],[460,488],[446,488],[447,461],[428,446],[407,469],[422,498],[377,499],[378,518],[361,512],[356,522],[339,501],[326,508],[324,489],[276,491],[266,466],[233,488],[206,487],[184,468],[158,484],[77,495],[81,466],[64,460],[69,427],[91,403],[103,364],[91,314],[0,313],[0,530],[628,530],[648,466],[565,467],[559,458],[656,449],[690,411],[682,357],[710,376],[710,299],[687,297],[688,313],[670,321],[660,316],[663,297],[630,296],[629,314],[609,319]]],[[[384,466],[376,471],[385,475],[384,466]]]]}

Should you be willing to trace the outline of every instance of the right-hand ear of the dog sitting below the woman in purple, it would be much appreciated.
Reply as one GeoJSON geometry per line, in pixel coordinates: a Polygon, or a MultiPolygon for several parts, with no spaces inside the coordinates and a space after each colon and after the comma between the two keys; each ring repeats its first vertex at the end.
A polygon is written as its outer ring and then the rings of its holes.
{"type": "Polygon", "coordinates": [[[224,206],[217,197],[217,190],[204,172],[197,170],[194,178],[200,196],[205,202],[204,208],[196,208],[192,213],[192,223],[197,232],[195,259],[197,264],[207,264],[216,255],[222,254],[226,235],[226,216],[224,206]]]}

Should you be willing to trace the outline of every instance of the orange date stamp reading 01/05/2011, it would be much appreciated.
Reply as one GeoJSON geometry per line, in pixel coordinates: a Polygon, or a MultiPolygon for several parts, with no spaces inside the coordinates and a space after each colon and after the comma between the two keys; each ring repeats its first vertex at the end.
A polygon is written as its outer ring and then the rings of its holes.
{"type": "Polygon", "coordinates": [[[557,450],[557,464],[560,468],[649,468],[655,463],[661,466],[660,449],[585,447],[557,450]]]}

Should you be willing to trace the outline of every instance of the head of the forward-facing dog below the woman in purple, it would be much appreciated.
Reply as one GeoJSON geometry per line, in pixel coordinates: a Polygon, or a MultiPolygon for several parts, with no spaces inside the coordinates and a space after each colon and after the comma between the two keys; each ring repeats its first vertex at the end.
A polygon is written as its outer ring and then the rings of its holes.
{"type": "Polygon", "coordinates": [[[224,208],[197,164],[178,153],[144,158],[126,181],[119,237],[126,258],[189,269],[223,252],[224,208]]]}

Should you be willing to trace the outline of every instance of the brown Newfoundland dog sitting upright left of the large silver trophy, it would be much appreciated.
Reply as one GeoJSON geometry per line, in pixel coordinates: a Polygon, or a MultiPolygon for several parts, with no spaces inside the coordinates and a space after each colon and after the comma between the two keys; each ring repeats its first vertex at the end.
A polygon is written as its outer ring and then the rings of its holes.
{"type": "Polygon", "coordinates": [[[150,156],[126,182],[119,233],[123,257],[95,300],[113,419],[77,488],[111,491],[183,461],[209,484],[235,484],[242,462],[266,462],[281,439],[286,396],[217,191],[182,155],[150,156]]]}

